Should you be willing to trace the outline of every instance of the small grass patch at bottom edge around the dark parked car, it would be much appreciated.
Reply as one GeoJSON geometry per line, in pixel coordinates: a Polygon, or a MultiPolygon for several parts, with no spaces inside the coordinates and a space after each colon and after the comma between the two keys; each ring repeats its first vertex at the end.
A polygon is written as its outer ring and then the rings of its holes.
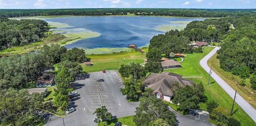
{"type": "Polygon", "coordinates": [[[112,119],[110,121],[105,121],[104,124],[102,122],[98,123],[98,126],[114,126],[116,122],[122,122],[123,125],[128,125],[128,126],[136,126],[135,123],[132,121],[133,115],[132,116],[127,116],[127,117],[122,117],[122,118],[117,118],[117,119],[112,119]],[[123,119],[123,120],[121,120],[123,119]]]}

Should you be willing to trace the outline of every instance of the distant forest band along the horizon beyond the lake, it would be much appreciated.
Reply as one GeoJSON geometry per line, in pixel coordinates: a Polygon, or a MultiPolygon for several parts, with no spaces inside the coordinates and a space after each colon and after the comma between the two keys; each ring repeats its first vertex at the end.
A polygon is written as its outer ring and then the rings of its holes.
{"type": "Polygon", "coordinates": [[[154,8],[123,8],[123,9],[0,9],[0,17],[25,17],[49,15],[165,15],[179,17],[226,17],[252,14],[254,9],[154,9],[154,8]]]}

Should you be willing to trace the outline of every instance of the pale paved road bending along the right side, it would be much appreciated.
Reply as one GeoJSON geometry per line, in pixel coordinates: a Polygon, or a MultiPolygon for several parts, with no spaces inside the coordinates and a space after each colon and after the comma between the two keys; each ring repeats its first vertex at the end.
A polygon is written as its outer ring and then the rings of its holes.
{"type": "MultiPolygon", "coordinates": [[[[207,65],[207,61],[219,50],[220,47],[215,47],[209,54],[207,54],[202,60],[200,65],[207,72],[210,71],[210,67],[207,65]]],[[[228,95],[234,98],[235,90],[231,88],[224,80],[222,80],[215,72],[211,74],[212,78],[228,93],[228,95]]],[[[239,94],[236,94],[236,103],[256,122],[256,110],[245,101],[239,94]]]]}

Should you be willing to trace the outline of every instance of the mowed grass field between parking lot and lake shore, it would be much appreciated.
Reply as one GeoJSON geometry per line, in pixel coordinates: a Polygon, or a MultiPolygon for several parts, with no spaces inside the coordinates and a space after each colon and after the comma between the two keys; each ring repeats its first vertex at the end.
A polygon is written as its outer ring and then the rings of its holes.
{"type": "MultiPolygon", "coordinates": [[[[142,49],[144,52],[148,48],[142,49]]],[[[131,50],[128,52],[112,53],[112,54],[98,54],[98,55],[87,55],[91,58],[92,66],[85,66],[84,63],[81,63],[83,71],[106,69],[106,68],[117,68],[117,59],[118,67],[121,67],[121,64],[128,64],[130,62],[139,62],[144,63],[146,58],[145,54],[138,52],[137,50],[131,50]],[[125,60],[124,60],[125,58],[125,60]]]]}

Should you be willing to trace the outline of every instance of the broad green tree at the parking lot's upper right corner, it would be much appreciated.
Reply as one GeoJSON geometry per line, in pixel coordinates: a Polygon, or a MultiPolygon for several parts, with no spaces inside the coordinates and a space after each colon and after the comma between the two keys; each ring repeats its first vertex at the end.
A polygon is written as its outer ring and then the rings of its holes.
{"type": "Polygon", "coordinates": [[[119,72],[122,77],[127,77],[131,75],[134,79],[141,79],[146,76],[147,71],[140,63],[130,62],[129,64],[122,64],[119,72]]]}

